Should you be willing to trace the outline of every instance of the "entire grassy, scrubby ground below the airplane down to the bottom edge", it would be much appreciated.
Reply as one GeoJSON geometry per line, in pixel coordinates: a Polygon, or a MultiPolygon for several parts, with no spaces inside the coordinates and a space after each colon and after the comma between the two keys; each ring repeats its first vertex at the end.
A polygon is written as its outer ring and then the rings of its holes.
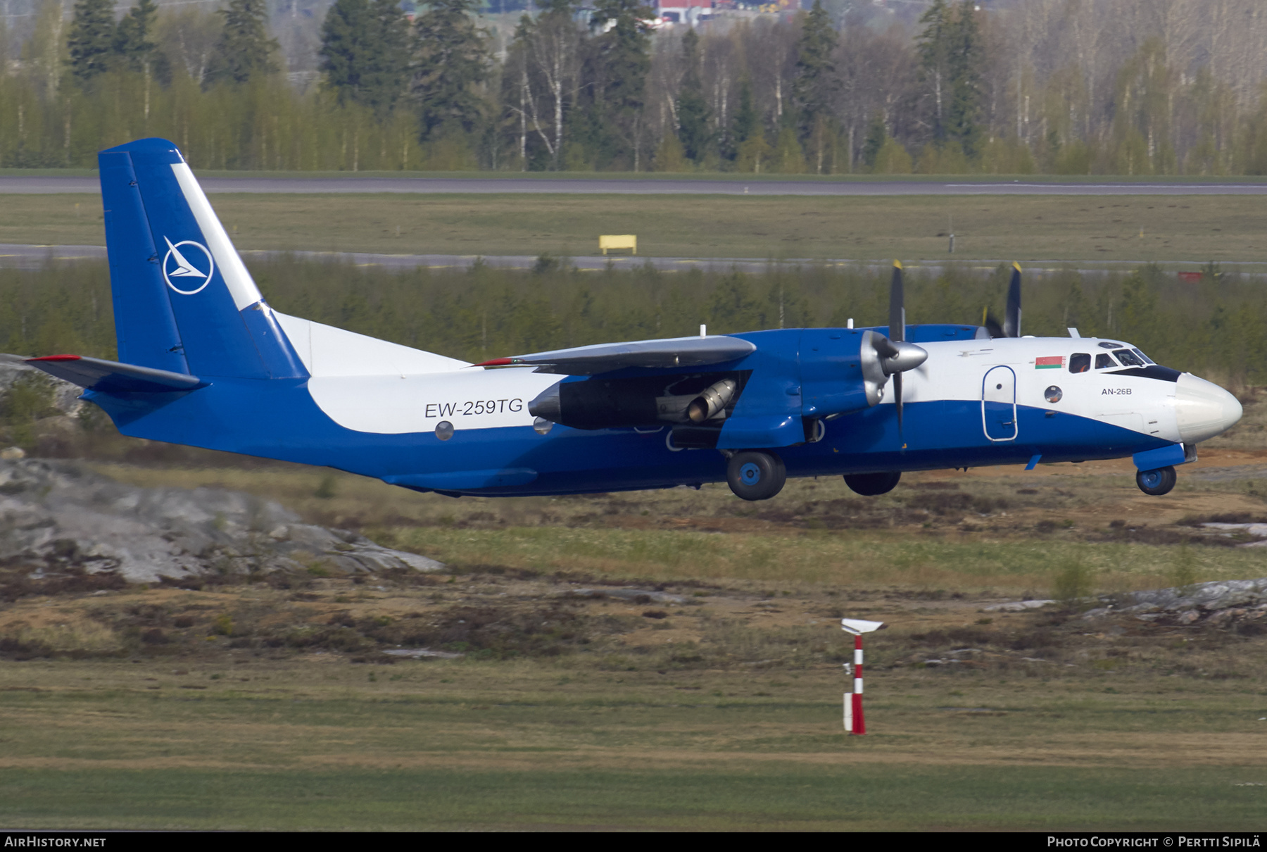
{"type": "Polygon", "coordinates": [[[1263,513],[1267,454],[1242,440],[1166,498],[1087,463],[916,474],[865,505],[801,481],[755,512],[711,488],[451,501],[295,465],[98,464],[450,568],[5,602],[0,822],[1256,830],[1267,635],[982,612],[1069,565],[1097,591],[1262,576],[1262,549],[1186,526],[1263,513]],[[841,733],[841,615],[892,624],[868,639],[867,738],[841,733]],[[400,645],[465,655],[381,653],[400,645]]]}

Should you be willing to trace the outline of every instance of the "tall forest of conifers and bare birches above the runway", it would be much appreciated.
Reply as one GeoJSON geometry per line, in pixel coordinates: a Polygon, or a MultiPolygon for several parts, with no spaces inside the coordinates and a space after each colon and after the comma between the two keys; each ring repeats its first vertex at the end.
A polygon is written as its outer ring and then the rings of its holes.
{"type": "Polygon", "coordinates": [[[815,0],[654,33],[640,0],[538,3],[494,34],[479,0],[336,0],[303,87],[264,0],[70,20],[44,0],[20,46],[0,37],[0,165],[166,136],[203,169],[1267,174],[1259,0],[905,20],[815,0]]]}

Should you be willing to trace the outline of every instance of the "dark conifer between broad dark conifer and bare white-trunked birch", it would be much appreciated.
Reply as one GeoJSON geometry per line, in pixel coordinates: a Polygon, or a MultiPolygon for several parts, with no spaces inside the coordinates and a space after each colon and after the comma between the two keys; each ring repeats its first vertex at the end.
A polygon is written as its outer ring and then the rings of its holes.
{"type": "Polygon", "coordinates": [[[471,132],[484,115],[476,86],[490,74],[488,30],[471,18],[480,0],[435,0],[414,20],[417,70],[413,93],[422,110],[422,136],[471,132]]]}

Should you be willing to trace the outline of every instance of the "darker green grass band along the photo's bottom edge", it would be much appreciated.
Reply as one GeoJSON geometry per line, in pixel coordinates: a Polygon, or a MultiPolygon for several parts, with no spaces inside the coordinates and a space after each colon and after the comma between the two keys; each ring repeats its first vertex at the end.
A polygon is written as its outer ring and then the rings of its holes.
{"type": "Polygon", "coordinates": [[[715,771],[6,770],[24,828],[1256,830],[1261,787],[1228,767],[788,767],[715,771]]]}

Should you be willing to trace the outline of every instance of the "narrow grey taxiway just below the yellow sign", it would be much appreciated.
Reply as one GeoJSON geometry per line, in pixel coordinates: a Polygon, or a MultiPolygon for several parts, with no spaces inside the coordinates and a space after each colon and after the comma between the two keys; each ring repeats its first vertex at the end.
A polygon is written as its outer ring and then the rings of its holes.
{"type": "MultiPolygon", "coordinates": [[[[476,262],[483,262],[498,269],[533,269],[541,260],[537,255],[372,255],[369,252],[336,252],[336,251],[267,251],[267,250],[239,250],[239,255],[247,262],[272,260],[277,257],[296,257],[333,264],[348,264],[351,266],[380,266],[395,271],[408,269],[469,269],[476,262]]],[[[106,259],[105,246],[34,246],[0,243],[0,266],[10,269],[41,269],[49,260],[80,261],[106,259]]],[[[703,271],[731,271],[764,273],[775,266],[850,266],[865,270],[887,270],[889,261],[859,260],[848,257],[836,259],[808,259],[791,257],[779,261],[764,260],[759,257],[635,257],[622,256],[582,256],[555,259],[569,266],[585,273],[604,271],[611,269],[636,269],[653,266],[664,273],[684,273],[691,270],[703,271]]],[[[964,259],[955,265],[959,268],[992,269],[998,264],[1011,264],[1011,259],[964,259]]],[[[1085,274],[1102,274],[1119,269],[1134,269],[1148,261],[1144,260],[1116,260],[1100,261],[1092,266],[1073,265],[1060,260],[1030,260],[1024,261],[1026,273],[1041,274],[1074,270],[1085,274]]],[[[903,261],[908,269],[920,269],[933,274],[939,274],[949,266],[945,260],[911,260],[903,261]]],[[[1224,261],[1223,266],[1234,268],[1248,274],[1259,274],[1267,269],[1267,264],[1261,261],[1224,261]]],[[[1183,269],[1195,271],[1196,264],[1167,262],[1166,269],[1183,269]]]]}

